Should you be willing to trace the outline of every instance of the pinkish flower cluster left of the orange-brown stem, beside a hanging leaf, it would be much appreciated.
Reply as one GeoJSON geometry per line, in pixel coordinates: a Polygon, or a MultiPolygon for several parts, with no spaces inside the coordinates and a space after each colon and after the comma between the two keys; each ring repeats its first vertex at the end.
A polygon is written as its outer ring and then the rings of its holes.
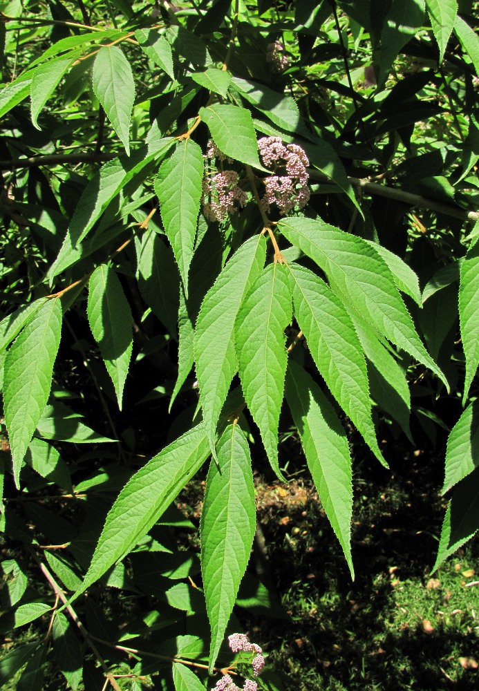
{"type": "Polygon", "coordinates": [[[225,220],[246,204],[246,193],[238,187],[238,173],[221,171],[203,178],[203,214],[207,220],[225,220]]]}

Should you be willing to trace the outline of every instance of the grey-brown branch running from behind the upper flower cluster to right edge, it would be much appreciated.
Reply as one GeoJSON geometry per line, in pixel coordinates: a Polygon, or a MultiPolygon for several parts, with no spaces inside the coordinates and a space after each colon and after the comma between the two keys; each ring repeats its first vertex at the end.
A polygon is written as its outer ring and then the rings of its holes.
{"type": "MultiPolygon", "coordinates": [[[[312,178],[312,180],[331,182],[331,179],[320,171],[308,169],[308,173],[310,174],[310,178],[312,178]]],[[[436,202],[433,199],[422,197],[419,194],[406,192],[402,189],[397,189],[396,187],[387,187],[385,184],[370,182],[370,180],[365,180],[364,178],[348,178],[348,180],[353,187],[362,189],[363,191],[368,192],[368,194],[395,199],[398,202],[410,204],[412,207],[427,209],[428,211],[437,211],[438,214],[445,214],[446,216],[452,216],[453,218],[460,218],[462,220],[470,220],[473,223],[476,223],[476,221],[479,220],[479,211],[467,211],[467,209],[453,207],[450,204],[444,204],[444,202],[436,202]]]]}

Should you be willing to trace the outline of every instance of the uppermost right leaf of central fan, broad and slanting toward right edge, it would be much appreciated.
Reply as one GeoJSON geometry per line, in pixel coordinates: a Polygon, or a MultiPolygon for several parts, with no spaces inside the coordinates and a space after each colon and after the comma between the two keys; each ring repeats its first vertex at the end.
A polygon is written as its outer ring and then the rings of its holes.
{"type": "Polygon", "coordinates": [[[361,319],[429,367],[449,388],[417,335],[391,271],[366,240],[307,218],[283,220],[279,230],[323,269],[331,287],[361,319]]]}

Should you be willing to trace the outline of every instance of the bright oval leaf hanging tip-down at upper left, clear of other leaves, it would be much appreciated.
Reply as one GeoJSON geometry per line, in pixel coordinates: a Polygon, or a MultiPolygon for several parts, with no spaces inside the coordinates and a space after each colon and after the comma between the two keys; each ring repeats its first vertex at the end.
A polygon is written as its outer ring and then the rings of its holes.
{"type": "Polygon", "coordinates": [[[103,46],[93,63],[93,91],[130,155],[129,130],[135,84],[129,61],[118,46],[103,46]]]}

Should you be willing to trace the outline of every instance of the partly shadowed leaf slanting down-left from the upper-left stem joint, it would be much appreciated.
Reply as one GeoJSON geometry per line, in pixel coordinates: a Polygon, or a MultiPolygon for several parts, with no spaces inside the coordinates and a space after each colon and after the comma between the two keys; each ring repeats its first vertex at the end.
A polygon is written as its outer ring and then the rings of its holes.
{"type": "Polygon", "coordinates": [[[160,160],[174,144],[173,139],[152,139],[147,146],[133,151],[131,158],[122,156],[106,163],[88,182],[79,199],[75,213],[68,226],[62,249],[50,267],[50,280],[75,263],[81,253],[77,245],[91,231],[106,207],[115,199],[126,184],[134,178],[141,178],[153,160],[160,160]]]}

